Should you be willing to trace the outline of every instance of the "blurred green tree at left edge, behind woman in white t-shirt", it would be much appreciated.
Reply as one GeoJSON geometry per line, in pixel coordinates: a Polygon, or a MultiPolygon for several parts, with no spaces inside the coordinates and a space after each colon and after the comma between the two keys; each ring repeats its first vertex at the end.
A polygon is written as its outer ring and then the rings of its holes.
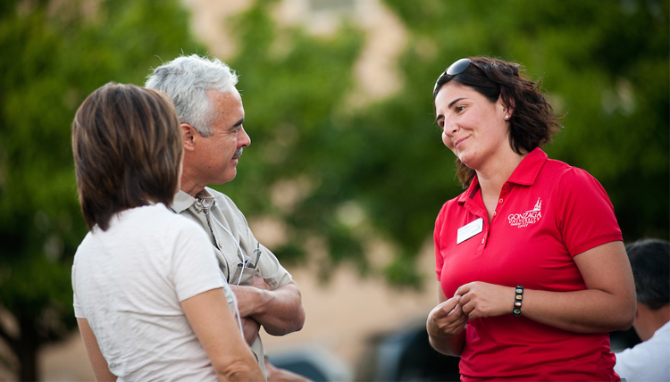
{"type": "Polygon", "coordinates": [[[71,120],[106,82],[143,83],[156,57],[202,50],[177,0],[4,1],[0,5],[2,360],[38,380],[40,346],[76,325],[71,263],[87,232],[71,120]]]}

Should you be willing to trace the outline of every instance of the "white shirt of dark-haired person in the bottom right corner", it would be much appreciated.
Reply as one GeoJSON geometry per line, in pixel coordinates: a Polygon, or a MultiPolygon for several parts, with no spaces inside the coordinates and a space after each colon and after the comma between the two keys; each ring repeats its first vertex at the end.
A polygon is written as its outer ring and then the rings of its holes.
{"type": "Polygon", "coordinates": [[[615,355],[616,374],[626,382],[670,381],[670,322],[647,341],[615,355]]]}

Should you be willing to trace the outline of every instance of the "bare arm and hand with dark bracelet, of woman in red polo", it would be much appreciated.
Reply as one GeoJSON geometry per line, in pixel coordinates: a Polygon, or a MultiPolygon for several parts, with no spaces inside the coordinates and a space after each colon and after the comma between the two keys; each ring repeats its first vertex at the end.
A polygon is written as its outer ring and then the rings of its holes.
{"type": "MultiPolygon", "coordinates": [[[[635,286],[622,242],[599,245],[574,256],[586,289],[575,292],[523,291],[523,317],[577,333],[631,328],[635,286]]],[[[481,282],[456,290],[470,320],[511,314],[515,288],[481,282]]]]}

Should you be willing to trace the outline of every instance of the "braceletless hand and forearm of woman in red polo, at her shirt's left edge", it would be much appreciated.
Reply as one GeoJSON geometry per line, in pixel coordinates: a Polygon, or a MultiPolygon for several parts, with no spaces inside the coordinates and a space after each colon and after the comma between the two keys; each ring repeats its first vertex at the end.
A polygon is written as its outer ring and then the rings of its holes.
{"type": "Polygon", "coordinates": [[[426,330],[431,346],[440,353],[460,356],[465,346],[467,316],[455,296],[447,299],[438,281],[438,306],[429,314],[426,330]]]}

